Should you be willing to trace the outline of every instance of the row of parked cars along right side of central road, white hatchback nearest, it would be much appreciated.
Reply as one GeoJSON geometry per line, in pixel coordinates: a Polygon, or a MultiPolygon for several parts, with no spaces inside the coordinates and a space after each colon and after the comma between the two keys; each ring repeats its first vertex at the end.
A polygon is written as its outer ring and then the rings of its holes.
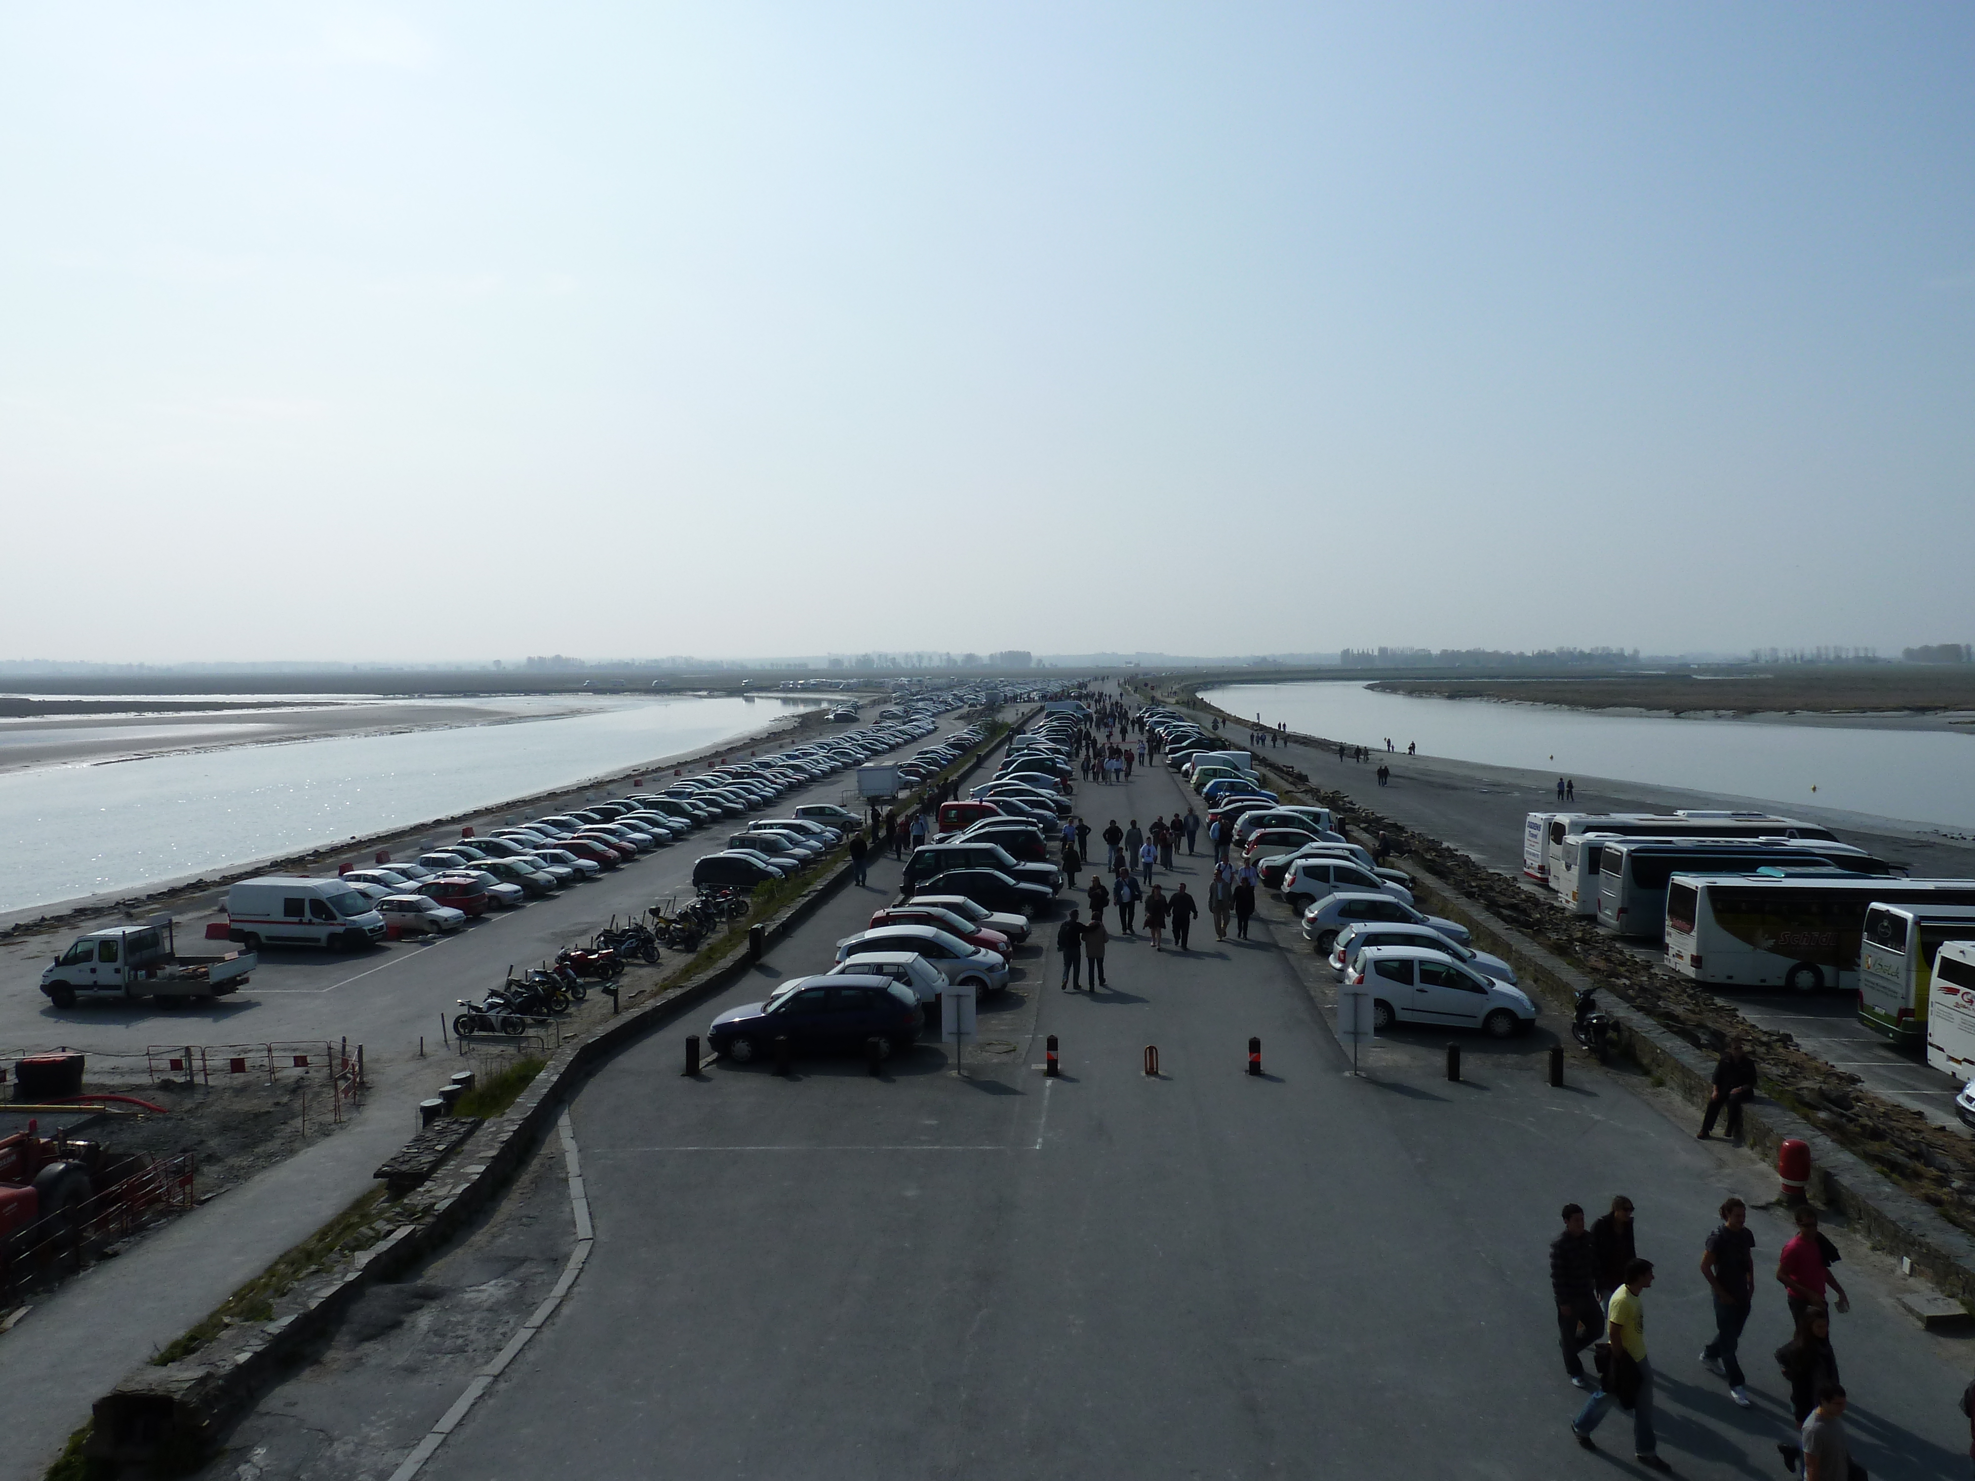
{"type": "Polygon", "coordinates": [[[1460,922],[1424,914],[1412,879],[1347,841],[1329,808],[1284,804],[1246,752],[1224,750],[1177,711],[1146,711],[1146,729],[1207,800],[1207,819],[1224,821],[1232,849],[1298,910],[1337,979],[1371,989],[1375,1029],[1422,1023],[1507,1037],[1537,1021],[1515,970],[1477,952],[1460,922]]]}

